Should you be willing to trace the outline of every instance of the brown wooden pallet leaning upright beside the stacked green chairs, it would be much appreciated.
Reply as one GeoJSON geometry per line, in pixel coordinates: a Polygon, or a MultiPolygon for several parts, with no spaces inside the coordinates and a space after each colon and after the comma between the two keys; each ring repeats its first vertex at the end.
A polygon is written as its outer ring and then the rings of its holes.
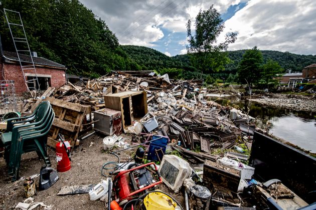
{"type": "Polygon", "coordinates": [[[55,148],[58,142],[58,133],[61,133],[70,142],[70,145],[78,145],[78,134],[88,106],[53,97],[46,97],[44,100],[50,101],[55,112],[55,119],[48,133],[47,144],[55,148]]]}

